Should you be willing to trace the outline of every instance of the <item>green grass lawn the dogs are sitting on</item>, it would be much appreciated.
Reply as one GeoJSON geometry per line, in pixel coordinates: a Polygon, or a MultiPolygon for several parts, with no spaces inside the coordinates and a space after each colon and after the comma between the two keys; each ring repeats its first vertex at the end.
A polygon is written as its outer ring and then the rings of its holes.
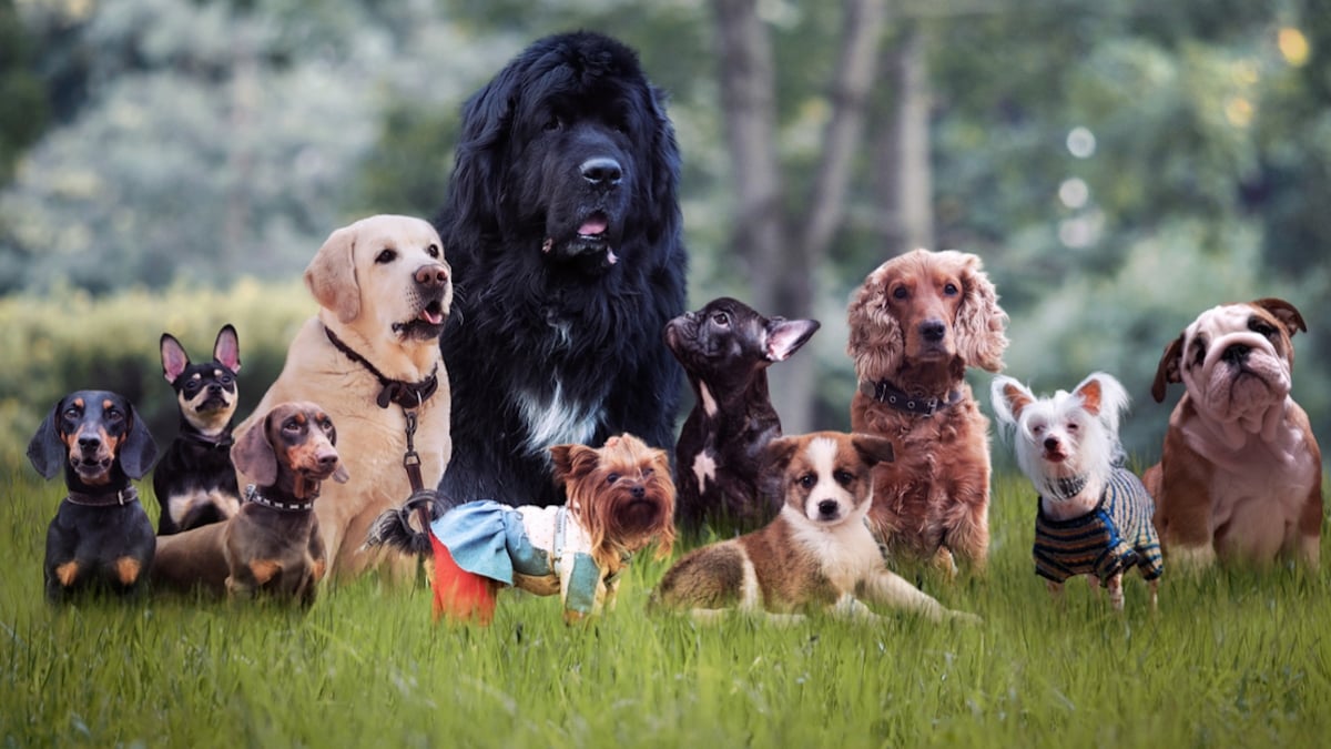
{"type": "Polygon", "coordinates": [[[1016,478],[996,488],[988,577],[924,580],[981,626],[648,617],[666,564],[644,560],[595,624],[506,594],[480,629],[434,626],[427,590],[374,578],[307,613],[53,609],[41,557],[63,492],[4,474],[5,746],[1318,746],[1331,729],[1328,572],[1166,570],[1155,614],[1135,576],[1123,614],[1081,584],[1057,610],[1016,478]]]}

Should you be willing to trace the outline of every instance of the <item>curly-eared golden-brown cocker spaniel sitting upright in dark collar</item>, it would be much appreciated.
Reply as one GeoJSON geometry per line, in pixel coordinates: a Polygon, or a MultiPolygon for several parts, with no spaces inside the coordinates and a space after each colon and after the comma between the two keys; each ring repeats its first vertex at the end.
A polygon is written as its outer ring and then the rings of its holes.
{"type": "Polygon", "coordinates": [[[989,420],[968,368],[1002,369],[1008,315],[980,257],[917,249],[869,273],[848,311],[858,389],[855,432],[892,438],[898,457],[874,468],[874,534],[898,561],[989,554],[989,420]]]}

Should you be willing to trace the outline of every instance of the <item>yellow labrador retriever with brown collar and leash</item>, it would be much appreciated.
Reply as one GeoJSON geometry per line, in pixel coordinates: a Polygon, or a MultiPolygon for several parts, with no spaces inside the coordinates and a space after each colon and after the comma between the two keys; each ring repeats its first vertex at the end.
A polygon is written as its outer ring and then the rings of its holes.
{"type": "MultiPolygon", "coordinates": [[[[370,524],[411,494],[403,466],[409,416],[421,481],[438,485],[449,464],[449,373],[439,356],[453,281],[434,228],[407,216],[371,216],[333,232],[305,269],[318,316],[297,333],[286,365],[254,413],[314,401],[338,425],[338,453],[351,474],[325,484],[315,502],[329,573],[347,578],[391,560],[395,576],[414,560],[361,552],[370,524]]],[[[246,418],[236,440],[256,422],[246,418]]],[[[244,473],[241,485],[253,482],[244,473]]]]}

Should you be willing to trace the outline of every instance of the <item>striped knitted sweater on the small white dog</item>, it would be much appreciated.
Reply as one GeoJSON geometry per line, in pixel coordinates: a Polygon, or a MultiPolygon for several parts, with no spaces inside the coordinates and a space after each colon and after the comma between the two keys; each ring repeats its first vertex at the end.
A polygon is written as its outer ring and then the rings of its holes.
{"type": "Polygon", "coordinates": [[[1094,574],[1102,585],[1133,566],[1145,580],[1165,572],[1161,541],[1151,525],[1155,502],[1133,472],[1115,466],[1099,504],[1070,520],[1036,513],[1036,573],[1054,582],[1094,574]]]}

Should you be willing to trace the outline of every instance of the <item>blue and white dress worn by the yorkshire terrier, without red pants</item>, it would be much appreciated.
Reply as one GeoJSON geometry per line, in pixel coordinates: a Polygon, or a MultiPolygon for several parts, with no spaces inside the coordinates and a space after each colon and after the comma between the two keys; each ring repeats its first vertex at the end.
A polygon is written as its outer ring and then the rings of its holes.
{"type": "Polygon", "coordinates": [[[514,585],[518,576],[563,593],[564,609],[592,613],[600,569],[591,536],[564,506],[511,508],[492,500],[461,504],[430,524],[463,572],[514,585]]]}

